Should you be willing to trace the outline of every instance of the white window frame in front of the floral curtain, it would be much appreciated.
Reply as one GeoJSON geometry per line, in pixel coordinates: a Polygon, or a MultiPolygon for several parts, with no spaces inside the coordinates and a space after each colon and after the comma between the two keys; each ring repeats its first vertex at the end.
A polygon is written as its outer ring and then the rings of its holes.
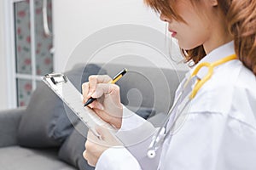
{"type": "Polygon", "coordinates": [[[32,74],[21,74],[16,72],[16,46],[15,46],[15,3],[24,2],[26,0],[4,0],[5,8],[5,42],[6,42],[6,63],[7,63],[7,100],[9,109],[16,108],[18,104],[17,79],[32,81],[32,91],[35,90],[37,82],[41,81],[41,76],[37,75],[36,70],[36,32],[35,32],[35,0],[30,0],[30,37],[31,37],[31,65],[32,74]]]}

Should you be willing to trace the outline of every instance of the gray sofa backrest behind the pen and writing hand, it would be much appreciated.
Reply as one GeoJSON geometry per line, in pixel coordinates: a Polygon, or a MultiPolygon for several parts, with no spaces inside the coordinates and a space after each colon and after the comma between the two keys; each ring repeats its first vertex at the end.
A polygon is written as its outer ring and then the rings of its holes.
{"type": "MultiPolygon", "coordinates": [[[[127,68],[125,77],[117,82],[120,87],[121,102],[131,107],[154,108],[157,113],[169,111],[177,86],[186,72],[111,63],[96,65],[101,65],[102,71],[106,70],[110,77],[127,68]]],[[[75,65],[74,67],[81,68],[82,71],[84,66],[75,65]]]]}

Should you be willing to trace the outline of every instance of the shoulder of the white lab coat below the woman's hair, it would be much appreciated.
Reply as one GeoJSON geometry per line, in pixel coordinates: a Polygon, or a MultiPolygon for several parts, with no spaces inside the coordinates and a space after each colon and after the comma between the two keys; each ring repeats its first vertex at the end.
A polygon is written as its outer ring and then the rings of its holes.
{"type": "Polygon", "coordinates": [[[214,69],[192,101],[191,112],[218,112],[256,127],[256,77],[239,60],[214,69]]]}

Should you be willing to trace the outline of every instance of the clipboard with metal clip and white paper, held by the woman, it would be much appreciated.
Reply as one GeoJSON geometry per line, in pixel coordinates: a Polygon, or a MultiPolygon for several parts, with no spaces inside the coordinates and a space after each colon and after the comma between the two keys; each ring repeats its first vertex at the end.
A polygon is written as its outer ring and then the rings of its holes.
{"type": "MultiPolygon", "coordinates": [[[[96,126],[108,129],[110,133],[117,133],[118,129],[111,126],[108,122],[104,122],[101,117],[97,116],[95,111],[83,104],[83,95],[73,86],[62,73],[47,74],[42,80],[51,88],[55,94],[84,122],[84,124],[101,139],[101,135],[97,133],[96,126]]],[[[115,136],[115,135],[114,135],[115,136]]]]}

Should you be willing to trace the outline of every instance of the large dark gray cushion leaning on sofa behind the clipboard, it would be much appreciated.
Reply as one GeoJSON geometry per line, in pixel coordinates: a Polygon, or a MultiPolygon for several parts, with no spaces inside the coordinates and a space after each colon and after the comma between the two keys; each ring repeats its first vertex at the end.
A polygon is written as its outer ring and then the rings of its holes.
{"type": "MultiPolygon", "coordinates": [[[[74,86],[81,91],[81,84],[92,74],[107,74],[97,65],[74,68],[66,73],[74,86]]],[[[79,118],[44,82],[32,94],[26,113],[21,117],[18,142],[26,147],[60,146],[72,133],[79,118]]]]}

